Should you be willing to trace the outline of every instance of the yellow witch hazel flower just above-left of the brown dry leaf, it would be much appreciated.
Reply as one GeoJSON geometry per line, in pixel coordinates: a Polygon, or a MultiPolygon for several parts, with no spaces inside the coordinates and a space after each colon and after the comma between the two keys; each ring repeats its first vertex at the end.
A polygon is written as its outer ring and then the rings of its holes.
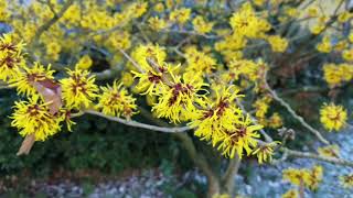
{"type": "Polygon", "coordinates": [[[18,78],[10,80],[11,87],[17,87],[20,95],[33,96],[36,95],[35,84],[53,80],[53,74],[51,65],[44,67],[40,63],[34,63],[33,67],[23,67],[23,73],[18,78]]]}

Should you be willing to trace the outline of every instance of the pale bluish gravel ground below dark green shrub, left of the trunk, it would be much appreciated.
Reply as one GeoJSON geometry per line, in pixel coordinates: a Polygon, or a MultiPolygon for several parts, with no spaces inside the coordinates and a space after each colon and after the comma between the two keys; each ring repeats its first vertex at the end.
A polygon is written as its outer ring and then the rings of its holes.
{"type": "Polygon", "coordinates": [[[148,170],[142,176],[131,176],[125,180],[76,185],[71,182],[56,185],[42,184],[39,191],[49,197],[57,198],[161,198],[165,197],[160,187],[168,183],[168,178],[154,170],[148,170]]]}

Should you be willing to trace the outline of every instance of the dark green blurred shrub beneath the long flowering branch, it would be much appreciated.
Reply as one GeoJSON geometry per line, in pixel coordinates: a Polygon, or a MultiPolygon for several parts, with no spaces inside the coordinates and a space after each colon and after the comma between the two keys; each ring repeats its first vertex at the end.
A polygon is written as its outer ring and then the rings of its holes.
{"type": "Polygon", "coordinates": [[[179,157],[188,167],[188,157],[179,155],[180,148],[172,136],[92,116],[79,118],[74,132],[65,131],[51,141],[39,142],[31,151],[33,155],[19,157],[13,151],[21,145],[22,138],[10,127],[11,120],[8,118],[17,96],[12,90],[1,90],[0,96],[2,176],[22,170],[49,175],[60,168],[119,173],[126,168],[158,167],[163,160],[176,162],[179,157]]]}

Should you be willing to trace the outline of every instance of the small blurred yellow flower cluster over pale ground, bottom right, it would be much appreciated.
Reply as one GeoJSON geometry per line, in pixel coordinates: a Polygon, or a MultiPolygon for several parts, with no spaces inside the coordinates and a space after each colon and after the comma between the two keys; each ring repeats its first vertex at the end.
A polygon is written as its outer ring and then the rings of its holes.
{"type": "Polygon", "coordinates": [[[313,166],[311,169],[288,168],[282,172],[284,180],[288,180],[293,185],[301,186],[315,190],[322,180],[323,168],[313,166]]]}

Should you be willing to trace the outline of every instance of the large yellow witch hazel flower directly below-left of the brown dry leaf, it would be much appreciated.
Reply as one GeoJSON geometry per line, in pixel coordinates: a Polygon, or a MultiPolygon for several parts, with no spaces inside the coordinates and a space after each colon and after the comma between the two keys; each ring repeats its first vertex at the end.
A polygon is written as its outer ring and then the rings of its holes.
{"type": "Polygon", "coordinates": [[[61,130],[61,119],[50,113],[47,103],[43,103],[39,95],[29,101],[15,102],[14,109],[11,125],[18,128],[22,136],[34,133],[36,141],[44,141],[61,130]]]}

